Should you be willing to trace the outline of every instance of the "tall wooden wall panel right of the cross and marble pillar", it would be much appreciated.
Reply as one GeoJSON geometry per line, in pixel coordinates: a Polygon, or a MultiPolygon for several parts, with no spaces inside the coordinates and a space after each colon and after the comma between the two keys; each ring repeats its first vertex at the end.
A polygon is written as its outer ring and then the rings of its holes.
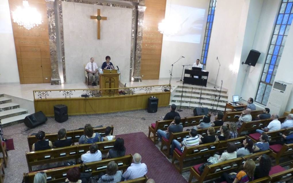
{"type": "Polygon", "coordinates": [[[165,18],[166,0],[145,0],[145,6],[140,74],[143,80],[159,79],[163,34],[158,24],[165,18]]]}

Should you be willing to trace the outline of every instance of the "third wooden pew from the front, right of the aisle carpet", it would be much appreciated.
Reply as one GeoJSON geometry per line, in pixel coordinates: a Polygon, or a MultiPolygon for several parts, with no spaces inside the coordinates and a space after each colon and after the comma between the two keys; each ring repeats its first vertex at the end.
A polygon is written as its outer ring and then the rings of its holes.
{"type": "Polygon", "coordinates": [[[186,163],[186,159],[193,161],[197,160],[195,158],[200,157],[201,160],[206,161],[208,157],[216,153],[218,144],[219,142],[212,142],[200,144],[198,146],[185,147],[183,152],[175,148],[173,151],[172,164],[176,167],[178,172],[182,173],[182,171],[188,170],[192,167],[186,163]],[[178,162],[174,163],[175,160],[178,160],[178,162]],[[183,164],[185,165],[184,167],[183,164]]]}

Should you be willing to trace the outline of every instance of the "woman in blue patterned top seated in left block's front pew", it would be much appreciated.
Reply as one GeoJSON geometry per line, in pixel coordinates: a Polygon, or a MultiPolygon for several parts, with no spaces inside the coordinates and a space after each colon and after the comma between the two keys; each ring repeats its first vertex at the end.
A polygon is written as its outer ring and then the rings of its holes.
{"type": "Polygon", "coordinates": [[[100,136],[99,133],[93,133],[93,127],[90,124],[86,124],[84,126],[84,135],[79,138],[78,143],[95,143],[103,141],[103,138],[100,136]]]}

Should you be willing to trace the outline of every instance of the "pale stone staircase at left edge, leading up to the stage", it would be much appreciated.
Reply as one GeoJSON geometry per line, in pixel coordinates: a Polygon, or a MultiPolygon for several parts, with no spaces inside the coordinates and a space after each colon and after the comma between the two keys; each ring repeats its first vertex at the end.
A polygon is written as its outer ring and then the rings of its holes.
{"type": "Polygon", "coordinates": [[[21,123],[28,115],[28,110],[20,108],[19,104],[0,94],[0,119],[3,127],[21,123]]]}

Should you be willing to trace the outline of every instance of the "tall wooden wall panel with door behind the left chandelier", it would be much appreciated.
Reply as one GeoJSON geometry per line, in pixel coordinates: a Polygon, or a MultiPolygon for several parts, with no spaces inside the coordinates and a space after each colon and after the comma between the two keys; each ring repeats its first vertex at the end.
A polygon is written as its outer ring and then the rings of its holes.
{"type": "Polygon", "coordinates": [[[8,0],[11,13],[13,37],[21,84],[50,83],[51,59],[45,0],[28,0],[42,16],[42,24],[30,30],[13,22],[12,11],[23,7],[22,0],[8,0]]]}

